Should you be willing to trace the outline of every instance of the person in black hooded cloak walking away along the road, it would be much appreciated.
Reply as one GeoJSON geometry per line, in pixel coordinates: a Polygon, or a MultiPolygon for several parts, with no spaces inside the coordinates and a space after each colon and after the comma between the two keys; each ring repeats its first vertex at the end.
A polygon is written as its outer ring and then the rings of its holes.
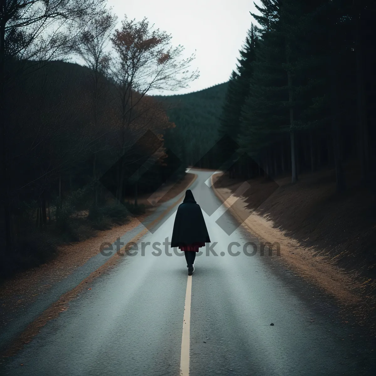
{"type": "Polygon", "coordinates": [[[179,247],[184,251],[189,276],[194,272],[196,253],[199,252],[199,248],[205,247],[205,243],[210,243],[205,220],[200,205],[188,189],[185,191],[183,202],[177,208],[171,248],[179,247]]]}

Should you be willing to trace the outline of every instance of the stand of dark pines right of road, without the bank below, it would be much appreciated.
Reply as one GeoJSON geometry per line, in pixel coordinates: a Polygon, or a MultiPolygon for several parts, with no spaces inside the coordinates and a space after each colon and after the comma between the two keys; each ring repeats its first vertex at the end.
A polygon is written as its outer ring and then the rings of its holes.
{"type": "Polygon", "coordinates": [[[374,178],[375,2],[262,0],[256,8],[260,27],[249,30],[221,120],[220,135],[243,155],[232,175],[264,170],[296,182],[330,167],[343,191],[355,163],[356,180],[374,178]]]}

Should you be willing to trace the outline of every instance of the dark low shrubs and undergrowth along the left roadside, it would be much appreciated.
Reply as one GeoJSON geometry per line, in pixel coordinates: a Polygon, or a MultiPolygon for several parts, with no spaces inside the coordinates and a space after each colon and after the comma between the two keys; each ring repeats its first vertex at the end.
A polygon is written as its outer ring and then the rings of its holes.
{"type": "Polygon", "coordinates": [[[52,218],[36,226],[35,209],[15,218],[17,233],[14,252],[1,256],[0,280],[11,277],[18,271],[37,267],[51,261],[58,254],[58,247],[71,242],[80,242],[96,237],[99,231],[129,223],[132,216],[144,214],[146,206],[132,203],[91,204],[83,209],[67,199],[50,208],[52,218]]]}

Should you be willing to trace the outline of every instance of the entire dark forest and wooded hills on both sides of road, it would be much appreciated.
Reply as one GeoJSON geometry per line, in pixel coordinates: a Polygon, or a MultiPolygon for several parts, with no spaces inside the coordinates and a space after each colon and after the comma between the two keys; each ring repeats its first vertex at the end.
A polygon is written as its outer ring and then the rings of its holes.
{"type": "Polygon", "coordinates": [[[373,1],[262,0],[229,81],[173,96],[150,91],[197,79],[194,55],[145,18],[116,28],[104,0],[28,7],[0,16],[2,273],[142,213],[138,194],[187,166],[291,183],[330,167],[339,193],[374,189],[373,1]]]}

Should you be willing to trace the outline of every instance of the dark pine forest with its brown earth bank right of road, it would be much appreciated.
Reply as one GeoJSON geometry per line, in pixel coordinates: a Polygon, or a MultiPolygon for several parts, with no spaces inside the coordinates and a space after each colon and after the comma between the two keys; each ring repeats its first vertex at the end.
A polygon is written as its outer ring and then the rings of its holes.
{"type": "Polygon", "coordinates": [[[220,121],[222,159],[235,152],[236,162],[218,186],[237,196],[247,180],[244,218],[255,211],[276,233],[356,270],[374,294],[376,2],[256,8],[259,26],[249,29],[220,121]]]}

